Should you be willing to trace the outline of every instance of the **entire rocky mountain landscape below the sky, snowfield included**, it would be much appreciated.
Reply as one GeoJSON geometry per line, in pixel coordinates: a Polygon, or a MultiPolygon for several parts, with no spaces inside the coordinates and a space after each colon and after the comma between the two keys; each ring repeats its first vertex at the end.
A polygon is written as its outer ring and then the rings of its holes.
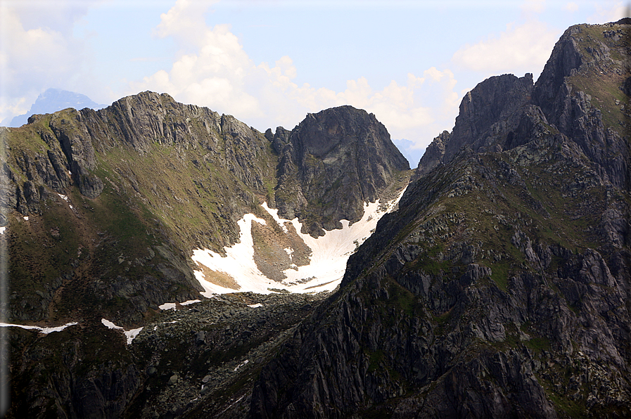
{"type": "Polygon", "coordinates": [[[1,129],[8,417],[630,417],[630,30],[481,82],[413,173],[349,106],[1,129]]]}

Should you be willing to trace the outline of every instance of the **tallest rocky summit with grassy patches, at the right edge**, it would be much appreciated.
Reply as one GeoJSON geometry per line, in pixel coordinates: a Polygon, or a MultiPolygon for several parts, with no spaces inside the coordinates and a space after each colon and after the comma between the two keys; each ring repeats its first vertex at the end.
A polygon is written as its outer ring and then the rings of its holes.
{"type": "Polygon", "coordinates": [[[533,104],[598,165],[599,176],[629,187],[631,112],[628,20],[570,27],[554,46],[535,84],[533,104]]]}

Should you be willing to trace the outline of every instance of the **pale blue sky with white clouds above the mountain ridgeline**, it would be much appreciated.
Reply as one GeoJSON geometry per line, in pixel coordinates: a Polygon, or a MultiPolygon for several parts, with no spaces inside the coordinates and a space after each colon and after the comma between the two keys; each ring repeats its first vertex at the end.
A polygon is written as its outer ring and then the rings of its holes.
{"type": "Polygon", "coordinates": [[[413,167],[466,91],[542,71],[564,30],[622,1],[0,0],[0,120],[49,87],[97,103],[152,90],[264,131],[373,112],[413,167]],[[402,141],[402,140],[407,141],[402,141]]]}

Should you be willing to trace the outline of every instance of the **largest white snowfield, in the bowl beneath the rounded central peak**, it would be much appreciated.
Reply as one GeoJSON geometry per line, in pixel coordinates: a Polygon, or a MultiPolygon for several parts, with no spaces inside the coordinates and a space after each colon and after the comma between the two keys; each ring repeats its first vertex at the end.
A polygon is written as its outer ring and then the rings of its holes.
{"type": "MultiPolygon", "coordinates": [[[[203,265],[210,271],[231,276],[240,288],[235,290],[216,285],[207,281],[202,271],[195,271],[196,278],[205,290],[202,295],[211,297],[213,294],[236,291],[269,294],[272,292],[271,289],[283,289],[290,292],[334,290],[344,276],[346,262],[352,252],[355,252],[357,246],[369,238],[377,225],[377,221],[383,214],[390,212],[395,207],[402,195],[403,192],[397,199],[386,205],[380,205],[378,200],[364,204],[364,217],[361,220],[352,225],[349,225],[348,220],[342,220],[343,228],[326,231],[324,236],[319,238],[301,233],[302,224],[298,222],[297,218],[293,220],[281,219],[278,210],[267,207],[267,203],[264,202],[262,207],[276,220],[283,231],[287,231],[286,223],[292,224],[298,236],[310,247],[312,251],[310,263],[283,271],[287,278],[282,282],[272,281],[264,276],[257,268],[254,260],[252,222],[256,221],[260,224],[266,224],[266,222],[253,214],[246,214],[243,219],[238,221],[238,226],[241,228],[241,242],[226,247],[225,257],[208,249],[193,250],[192,256],[193,261],[198,266],[203,265]]],[[[288,248],[286,252],[291,254],[293,249],[288,248]]]]}

